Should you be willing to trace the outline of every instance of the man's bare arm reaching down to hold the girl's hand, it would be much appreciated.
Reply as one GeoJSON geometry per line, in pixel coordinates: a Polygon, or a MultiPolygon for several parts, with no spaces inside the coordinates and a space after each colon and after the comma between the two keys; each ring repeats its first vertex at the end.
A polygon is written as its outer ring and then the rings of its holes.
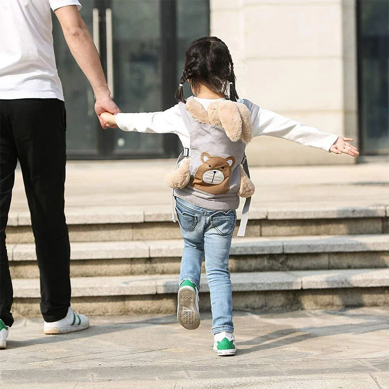
{"type": "Polygon", "coordinates": [[[101,67],[99,53],[93,43],[83,18],[76,5],[68,5],[56,9],[55,15],[61,24],[66,43],[78,66],[87,76],[96,96],[95,111],[100,124],[106,128],[106,123],[100,117],[102,112],[118,113],[120,109],[110,97],[106,77],[101,67]]]}

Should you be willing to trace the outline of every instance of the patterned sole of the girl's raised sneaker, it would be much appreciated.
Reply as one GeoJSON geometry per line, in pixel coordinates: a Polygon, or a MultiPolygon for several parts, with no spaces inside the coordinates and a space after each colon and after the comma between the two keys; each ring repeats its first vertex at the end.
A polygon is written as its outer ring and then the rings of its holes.
{"type": "Polygon", "coordinates": [[[196,292],[191,287],[178,291],[177,318],[187,330],[195,330],[200,325],[200,314],[196,309],[196,292]]]}

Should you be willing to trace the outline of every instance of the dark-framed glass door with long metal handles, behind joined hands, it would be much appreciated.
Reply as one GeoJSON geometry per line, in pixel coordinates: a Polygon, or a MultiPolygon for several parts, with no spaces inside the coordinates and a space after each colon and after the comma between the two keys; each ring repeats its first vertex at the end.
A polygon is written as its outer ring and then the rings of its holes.
{"type": "MultiPolygon", "coordinates": [[[[81,15],[93,32],[109,88],[121,110],[152,112],[173,106],[186,45],[209,35],[209,0],[81,3],[81,15]]],[[[69,158],[176,157],[180,145],[175,135],[100,127],[94,115],[93,92],[53,19],[54,49],[68,113],[69,158]]]]}

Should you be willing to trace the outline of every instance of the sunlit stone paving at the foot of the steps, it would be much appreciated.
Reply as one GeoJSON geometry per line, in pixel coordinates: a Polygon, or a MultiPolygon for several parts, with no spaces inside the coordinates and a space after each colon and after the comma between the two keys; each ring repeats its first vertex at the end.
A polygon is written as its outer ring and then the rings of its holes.
{"type": "Polygon", "coordinates": [[[238,353],[212,351],[210,316],[187,331],[174,316],[92,317],[45,336],[17,320],[0,352],[1,389],[388,389],[389,308],[236,312],[238,353]]]}

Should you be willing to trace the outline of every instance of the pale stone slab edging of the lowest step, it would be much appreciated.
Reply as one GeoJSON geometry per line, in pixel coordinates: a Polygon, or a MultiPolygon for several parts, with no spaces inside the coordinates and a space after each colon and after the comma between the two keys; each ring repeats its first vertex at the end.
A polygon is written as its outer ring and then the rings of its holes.
{"type": "MultiPolygon", "coordinates": [[[[389,286],[389,269],[232,273],[231,282],[235,292],[386,287],[389,286]]],[[[16,279],[13,285],[16,298],[40,297],[38,279],[16,279]]],[[[177,293],[178,275],[74,277],[71,278],[71,289],[73,297],[177,293]]],[[[207,280],[202,277],[200,292],[208,291],[207,280]]]]}

